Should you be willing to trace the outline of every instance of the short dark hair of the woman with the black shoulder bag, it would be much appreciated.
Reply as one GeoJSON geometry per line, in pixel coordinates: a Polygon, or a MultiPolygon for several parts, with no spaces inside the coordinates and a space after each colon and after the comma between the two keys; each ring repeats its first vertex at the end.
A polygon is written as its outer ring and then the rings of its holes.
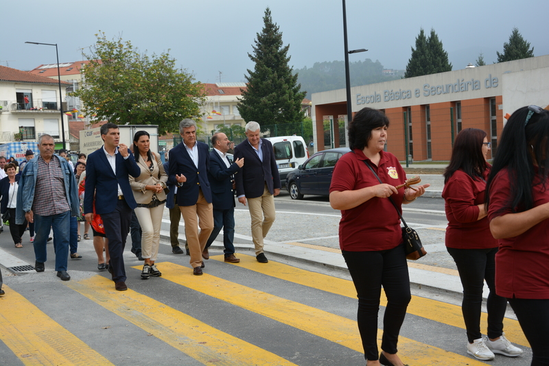
{"type": "Polygon", "coordinates": [[[353,121],[349,123],[349,147],[364,149],[372,136],[372,130],[377,127],[389,127],[389,119],[381,110],[362,108],[356,112],[353,121]]]}

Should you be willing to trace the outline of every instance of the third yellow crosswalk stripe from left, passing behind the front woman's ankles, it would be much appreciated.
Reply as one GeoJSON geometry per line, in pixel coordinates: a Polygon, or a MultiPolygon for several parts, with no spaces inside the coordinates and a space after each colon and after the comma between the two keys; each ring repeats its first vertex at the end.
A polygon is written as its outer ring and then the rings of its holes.
{"type": "MultiPolygon", "coordinates": [[[[191,269],[174,263],[156,263],[162,278],[205,295],[228,302],[317,337],[363,352],[356,321],[299,304],[263,291],[242,286],[205,273],[191,276],[191,269]]],[[[134,267],[140,269],[140,266],[134,267]]],[[[403,361],[414,365],[484,365],[469,357],[447,352],[432,345],[399,337],[399,351],[403,361]]]]}

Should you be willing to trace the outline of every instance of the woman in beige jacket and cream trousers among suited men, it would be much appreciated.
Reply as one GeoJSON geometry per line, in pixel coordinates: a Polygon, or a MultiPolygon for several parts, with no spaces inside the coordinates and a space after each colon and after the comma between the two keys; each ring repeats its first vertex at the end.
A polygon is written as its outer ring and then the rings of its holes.
{"type": "Polygon", "coordinates": [[[137,178],[130,176],[130,186],[133,190],[135,215],[141,225],[141,256],[145,259],[141,278],[147,280],[150,276],[160,277],[161,271],[154,262],[160,246],[160,226],[166,195],[164,188],[167,174],[164,171],[160,155],[150,151],[149,133],[137,131],[133,137],[133,152],[135,162],[141,169],[137,178]]]}

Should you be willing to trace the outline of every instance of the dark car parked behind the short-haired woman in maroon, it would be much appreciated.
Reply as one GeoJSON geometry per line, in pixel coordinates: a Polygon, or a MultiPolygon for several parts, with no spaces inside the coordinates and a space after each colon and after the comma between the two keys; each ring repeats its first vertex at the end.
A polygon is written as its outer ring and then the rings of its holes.
{"type": "Polygon", "coordinates": [[[288,173],[286,188],[290,197],[302,199],[303,195],[329,195],[331,175],[336,162],[349,151],[351,150],[348,147],[318,151],[298,169],[288,173]]]}

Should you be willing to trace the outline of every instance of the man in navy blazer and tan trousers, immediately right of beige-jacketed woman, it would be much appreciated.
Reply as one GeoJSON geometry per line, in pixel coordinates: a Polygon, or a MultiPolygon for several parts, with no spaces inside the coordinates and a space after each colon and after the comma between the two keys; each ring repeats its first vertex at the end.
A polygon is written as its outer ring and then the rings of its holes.
{"type": "Polygon", "coordinates": [[[193,274],[200,276],[204,267],[202,250],[213,230],[211,190],[208,182],[209,149],[205,143],[196,141],[196,123],[192,119],[184,119],[179,123],[179,133],[183,142],[170,150],[168,183],[177,186],[177,204],[185,220],[185,236],[191,253],[190,263],[193,274]]]}

